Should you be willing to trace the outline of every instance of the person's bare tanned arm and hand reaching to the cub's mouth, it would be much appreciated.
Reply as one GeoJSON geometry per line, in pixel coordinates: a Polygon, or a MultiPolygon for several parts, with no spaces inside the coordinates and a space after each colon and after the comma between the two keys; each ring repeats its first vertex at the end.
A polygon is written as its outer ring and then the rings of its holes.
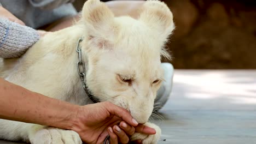
{"type": "MultiPolygon", "coordinates": [[[[121,121],[131,127],[137,126],[127,110],[112,103],[73,105],[31,92],[1,78],[0,104],[0,118],[74,130],[86,143],[102,143],[108,135],[107,129],[121,121]]],[[[155,133],[149,127],[141,131],[155,133]]]]}

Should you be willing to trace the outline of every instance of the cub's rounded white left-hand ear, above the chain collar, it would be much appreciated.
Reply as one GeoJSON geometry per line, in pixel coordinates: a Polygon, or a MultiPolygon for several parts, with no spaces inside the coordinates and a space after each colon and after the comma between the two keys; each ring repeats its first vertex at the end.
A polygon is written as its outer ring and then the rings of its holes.
{"type": "Polygon", "coordinates": [[[114,22],[114,14],[106,4],[99,0],[88,0],[82,10],[83,23],[91,38],[104,45],[115,40],[118,26],[114,22]]]}

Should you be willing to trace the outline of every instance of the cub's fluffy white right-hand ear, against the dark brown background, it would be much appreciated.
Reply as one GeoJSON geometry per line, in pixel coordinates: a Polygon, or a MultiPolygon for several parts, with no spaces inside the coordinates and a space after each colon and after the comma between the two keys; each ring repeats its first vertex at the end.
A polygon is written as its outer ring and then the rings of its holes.
{"type": "Polygon", "coordinates": [[[144,3],[139,20],[146,23],[165,41],[174,29],[172,12],[164,2],[147,1],[144,3]]]}

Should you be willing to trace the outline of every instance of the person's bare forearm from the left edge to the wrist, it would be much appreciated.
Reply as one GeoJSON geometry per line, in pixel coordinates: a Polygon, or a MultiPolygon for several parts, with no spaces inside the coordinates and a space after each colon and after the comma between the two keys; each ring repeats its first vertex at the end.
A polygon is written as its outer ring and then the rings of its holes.
{"type": "Polygon", "coordinates": [[[0,118],[67,129],[78,107],[0,78],[0,118]]]}

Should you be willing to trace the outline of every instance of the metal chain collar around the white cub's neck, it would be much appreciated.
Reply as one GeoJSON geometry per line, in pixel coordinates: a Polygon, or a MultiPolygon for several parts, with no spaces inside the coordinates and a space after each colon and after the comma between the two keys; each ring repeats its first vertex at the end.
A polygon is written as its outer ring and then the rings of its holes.
{"type": "Polygon", "coordinates": [[[88,91],[88,88],[86,86],[86,69],[85,69],[83,58],[82,58],[82,49],[81,47],[79,47],[79,44],[81,41],[83,41],[83,38],[79,38],[77,42],[77,52],[78,52],[78,58],[79,58],[79,61],[77,62],[77,71],[82,81],[84,91],[86,92],[86,94],[88,95],[88,97],[91,99],[92,102],[98,103],[100,102],[100,100],[98,100],[94,95],[92,95],[88,91]]]}

